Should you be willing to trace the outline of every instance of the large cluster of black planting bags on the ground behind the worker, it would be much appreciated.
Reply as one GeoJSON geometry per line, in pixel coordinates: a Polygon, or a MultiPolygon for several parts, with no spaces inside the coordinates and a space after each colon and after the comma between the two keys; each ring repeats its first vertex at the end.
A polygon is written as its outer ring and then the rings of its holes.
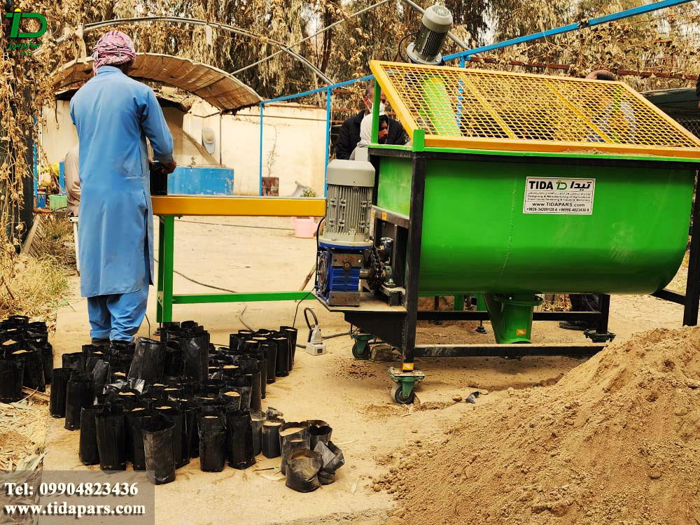
{"type": "MultiPolygon", "coordinates": [[[[230,335],[230,346],[217,349],[202,326],[184,321],[163,323],[160,340],[87,344],[64,354],[63,366],[53,370],[50,413],[65,417],[65,428],[80,429],[80,461],[102,470],[125,470],[129,461],[164,484],[198,456],[205,471],[221,471],[227,461],[248,468],[264,451],[264,435],[269,441],[266,426],[278,431],[277,447],[267,454],[281,454],[284,422],[274,409],[263,414],[261,400],[266,385],[293,367],[296,337],[290,327],[240,330],[230,335]]],[[[325,431],[312,426],[330,430],[325,423],[302,426],[307,449],[311,433],[325,431]]],[[[332,452],[328,439],[324,446],[328,461],[332,455],[338,463],[342,453],[332,452]]]]}

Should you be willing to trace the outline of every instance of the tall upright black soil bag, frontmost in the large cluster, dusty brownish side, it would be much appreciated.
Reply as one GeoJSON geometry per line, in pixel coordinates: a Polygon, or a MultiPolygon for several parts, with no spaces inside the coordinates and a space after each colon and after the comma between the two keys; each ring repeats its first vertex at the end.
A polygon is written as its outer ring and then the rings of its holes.
{"type": "Polygon", "coordinates": [[[141,425],[148,479],[155,485],[175,481],[174,430],[174,423],[167,417],[149,419],[141,425]]]}

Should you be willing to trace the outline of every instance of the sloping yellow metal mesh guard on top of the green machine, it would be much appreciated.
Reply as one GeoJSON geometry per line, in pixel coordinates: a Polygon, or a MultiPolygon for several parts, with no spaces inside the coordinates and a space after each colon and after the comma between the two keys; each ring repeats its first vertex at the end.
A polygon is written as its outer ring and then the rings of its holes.
{"type": "Polygon", "coordinates": [[[426,146],[700,158],[700,141],[621,82],[370,62],[426,146]]]}

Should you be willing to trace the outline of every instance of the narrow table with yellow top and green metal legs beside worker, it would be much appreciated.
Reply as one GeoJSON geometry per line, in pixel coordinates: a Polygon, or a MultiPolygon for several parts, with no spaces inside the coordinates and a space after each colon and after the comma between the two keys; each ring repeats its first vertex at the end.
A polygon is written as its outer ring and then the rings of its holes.
{"type": "Polygon", "coordinates": [[[159,323],[172,321],[173,304],[207,302],[253,302],[314,299],[303,291],[253,293],[173,292],[175,217],[181,216],[258,216],[323,217],[325,199],[316,197],[204,197],[168,195],[152,197],[153,214],[159,218],[158,307],[159,323]]]}

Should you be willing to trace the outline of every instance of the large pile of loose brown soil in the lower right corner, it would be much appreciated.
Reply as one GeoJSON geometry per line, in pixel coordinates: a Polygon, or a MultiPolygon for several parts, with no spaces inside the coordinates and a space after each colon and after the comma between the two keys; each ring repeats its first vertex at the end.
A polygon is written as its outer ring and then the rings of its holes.
{"type": "Polygon", "coordinates": [[[700,524],[699,379],[700,328],[635,335],[409,443],[374,490],[405,524],[700,524]]]}

